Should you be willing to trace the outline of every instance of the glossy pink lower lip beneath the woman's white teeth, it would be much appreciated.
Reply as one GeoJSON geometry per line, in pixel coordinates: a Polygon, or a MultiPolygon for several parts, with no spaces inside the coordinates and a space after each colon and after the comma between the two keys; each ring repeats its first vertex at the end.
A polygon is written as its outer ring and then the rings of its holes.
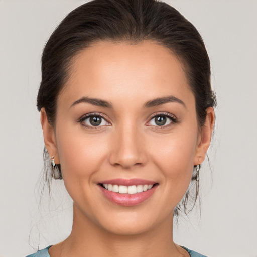
{"type": "Polygon", "coordinates": [[[123,206],[134,206],[147,200],[154,193],[155,189],[157,188],[157,185],[153,186],[151,189],[147,191],[143,191],[141,193],[136,194],[119,194],[109,191],[100,185],[99,187],[105,195],[105,197],[111,202],[123,206]]]}

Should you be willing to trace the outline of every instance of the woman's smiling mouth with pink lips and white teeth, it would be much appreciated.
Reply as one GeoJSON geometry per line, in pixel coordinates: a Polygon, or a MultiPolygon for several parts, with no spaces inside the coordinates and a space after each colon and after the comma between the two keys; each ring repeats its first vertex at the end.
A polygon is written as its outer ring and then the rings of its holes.
{"type": "Polygon", "coordinates": [[[122,206],[138,205],[150,198],[159,183],[147,180],[111,180],[98,183],[109,201],[122,206]]]}

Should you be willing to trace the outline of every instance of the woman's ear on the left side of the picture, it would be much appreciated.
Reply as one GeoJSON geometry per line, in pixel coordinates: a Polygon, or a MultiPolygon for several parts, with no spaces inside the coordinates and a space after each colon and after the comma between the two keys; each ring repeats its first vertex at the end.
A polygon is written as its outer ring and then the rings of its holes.
{"type": "Polygon", "coordinates": [[[56,146],[54,128],[48,122],[45,108],[42,108],[40,111],[40,121],[41,121],[42,130],[43,130],[46,149],[49,153],[49,156],[50,157],[54,156],[55,163],[58,164],[60,163],[60,161],[59,161],[59,156],[58,156],[58,151],[56,146]]]}

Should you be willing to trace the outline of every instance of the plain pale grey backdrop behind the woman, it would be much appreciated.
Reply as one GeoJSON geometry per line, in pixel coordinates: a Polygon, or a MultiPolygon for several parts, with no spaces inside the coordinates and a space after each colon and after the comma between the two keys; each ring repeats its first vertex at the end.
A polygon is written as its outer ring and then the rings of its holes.
{"type": "MultiPolygon", "coordinates": [[[[0,257],[25,256],[68,236],[62,182],[39,205],[43,137],[36,110],[40,57],[81,0],[0,0],[0,257]]],[[[257,1],[169,1],[201,33],[217,94],[210,167],[196,208],[174,226],[177,243],[209,257],[257,256],[257,1]]]]}

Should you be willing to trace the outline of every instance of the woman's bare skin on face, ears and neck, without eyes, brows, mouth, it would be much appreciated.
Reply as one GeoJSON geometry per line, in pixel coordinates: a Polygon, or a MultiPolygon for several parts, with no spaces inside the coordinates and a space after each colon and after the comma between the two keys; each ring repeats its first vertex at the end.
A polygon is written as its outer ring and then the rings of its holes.
{"type": "Polygon", "coordinates": [[[73,199],[70,236],[49,249],[57,256],[189,256],[173,242],[173,211],[184,196],[193,166],[210,144],[214,112],[198,127],[195,97],[182,64],[169,49],[144,41],[137,45],[100,42],[80,52],[58,96],[55,126],[41,110],[44,141],[61,163],[73,199]],[[175,96],[183,101],[152,107],[145,103],[175,96]],[[112,108],[81,97],[111,103],[112,108]],[[73,105],[73,106],[72,106],[73,105]],[[87,113],[104,116],[100,126],[79,122],[87,113]],[[158,126],[155,115],[170,114],[158,126]],[[136,206],[107,200],[97,182],[115,178],[156,181],[153,195],[136,206]],[[151,242],[151,243],[149,243],[151,242]]]}

